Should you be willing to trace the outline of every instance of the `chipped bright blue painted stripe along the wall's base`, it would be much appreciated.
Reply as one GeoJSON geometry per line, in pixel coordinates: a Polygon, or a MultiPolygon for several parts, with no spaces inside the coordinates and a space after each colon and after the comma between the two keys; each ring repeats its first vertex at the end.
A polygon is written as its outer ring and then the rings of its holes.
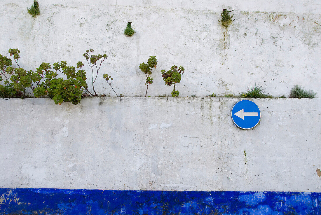
{"type": "Polygon", "coordinates": [[[0,188],[0,214],[321,215],[321,193],[0,188]]]}

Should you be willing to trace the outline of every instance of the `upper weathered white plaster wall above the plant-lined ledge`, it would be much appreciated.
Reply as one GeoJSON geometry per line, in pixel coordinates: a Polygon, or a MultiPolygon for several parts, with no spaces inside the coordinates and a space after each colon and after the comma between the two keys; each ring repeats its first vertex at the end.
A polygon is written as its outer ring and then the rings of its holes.
{"type": "Polygon", "coordinates": [[[186,69],[181,96],[238,94],[254,84],[273,96],[289,95],[295,84],[321,94],[319,0],[39,0],[36,18],[27,13],[32,2],[0,2],[0,53],[19,48],[27,70],[42,62],[75,65],[90,48],[106,53],[96,82],[101,94],[114,95],[102,78],[108,73],[118,94],[144,95],[138,65],[149,56],[158,59],[150,96],[170,94],[160,70],[173,64],[186,69]],[[218,22],[223,8],[235,9],[227,29],[218,22]],[[123,35],[127,21],[132,37],[123,35]]]}

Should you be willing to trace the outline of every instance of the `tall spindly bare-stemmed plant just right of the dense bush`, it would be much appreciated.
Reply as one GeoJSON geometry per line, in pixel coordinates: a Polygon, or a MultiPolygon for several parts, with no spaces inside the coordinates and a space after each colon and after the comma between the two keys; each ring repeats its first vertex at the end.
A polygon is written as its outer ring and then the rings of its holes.
{"type": "Polygon", "coordinates": [[[97,79],[101,63],[107,58],[107,55],[106,54],[93,55],[93,52],[94,52],[93,49],[86,50],[86,53],[84,53],[82,55],[82,56],[85,57],[89,67],[91,68],[91,72],[92,72],[92,90],[94,91],[94,94],[91,93],[87,88],[85,88],[85,90],[92,96],[98,96],[98,94],[95,91],[94,83],[95,83],[95,81],[97,79]]]}

